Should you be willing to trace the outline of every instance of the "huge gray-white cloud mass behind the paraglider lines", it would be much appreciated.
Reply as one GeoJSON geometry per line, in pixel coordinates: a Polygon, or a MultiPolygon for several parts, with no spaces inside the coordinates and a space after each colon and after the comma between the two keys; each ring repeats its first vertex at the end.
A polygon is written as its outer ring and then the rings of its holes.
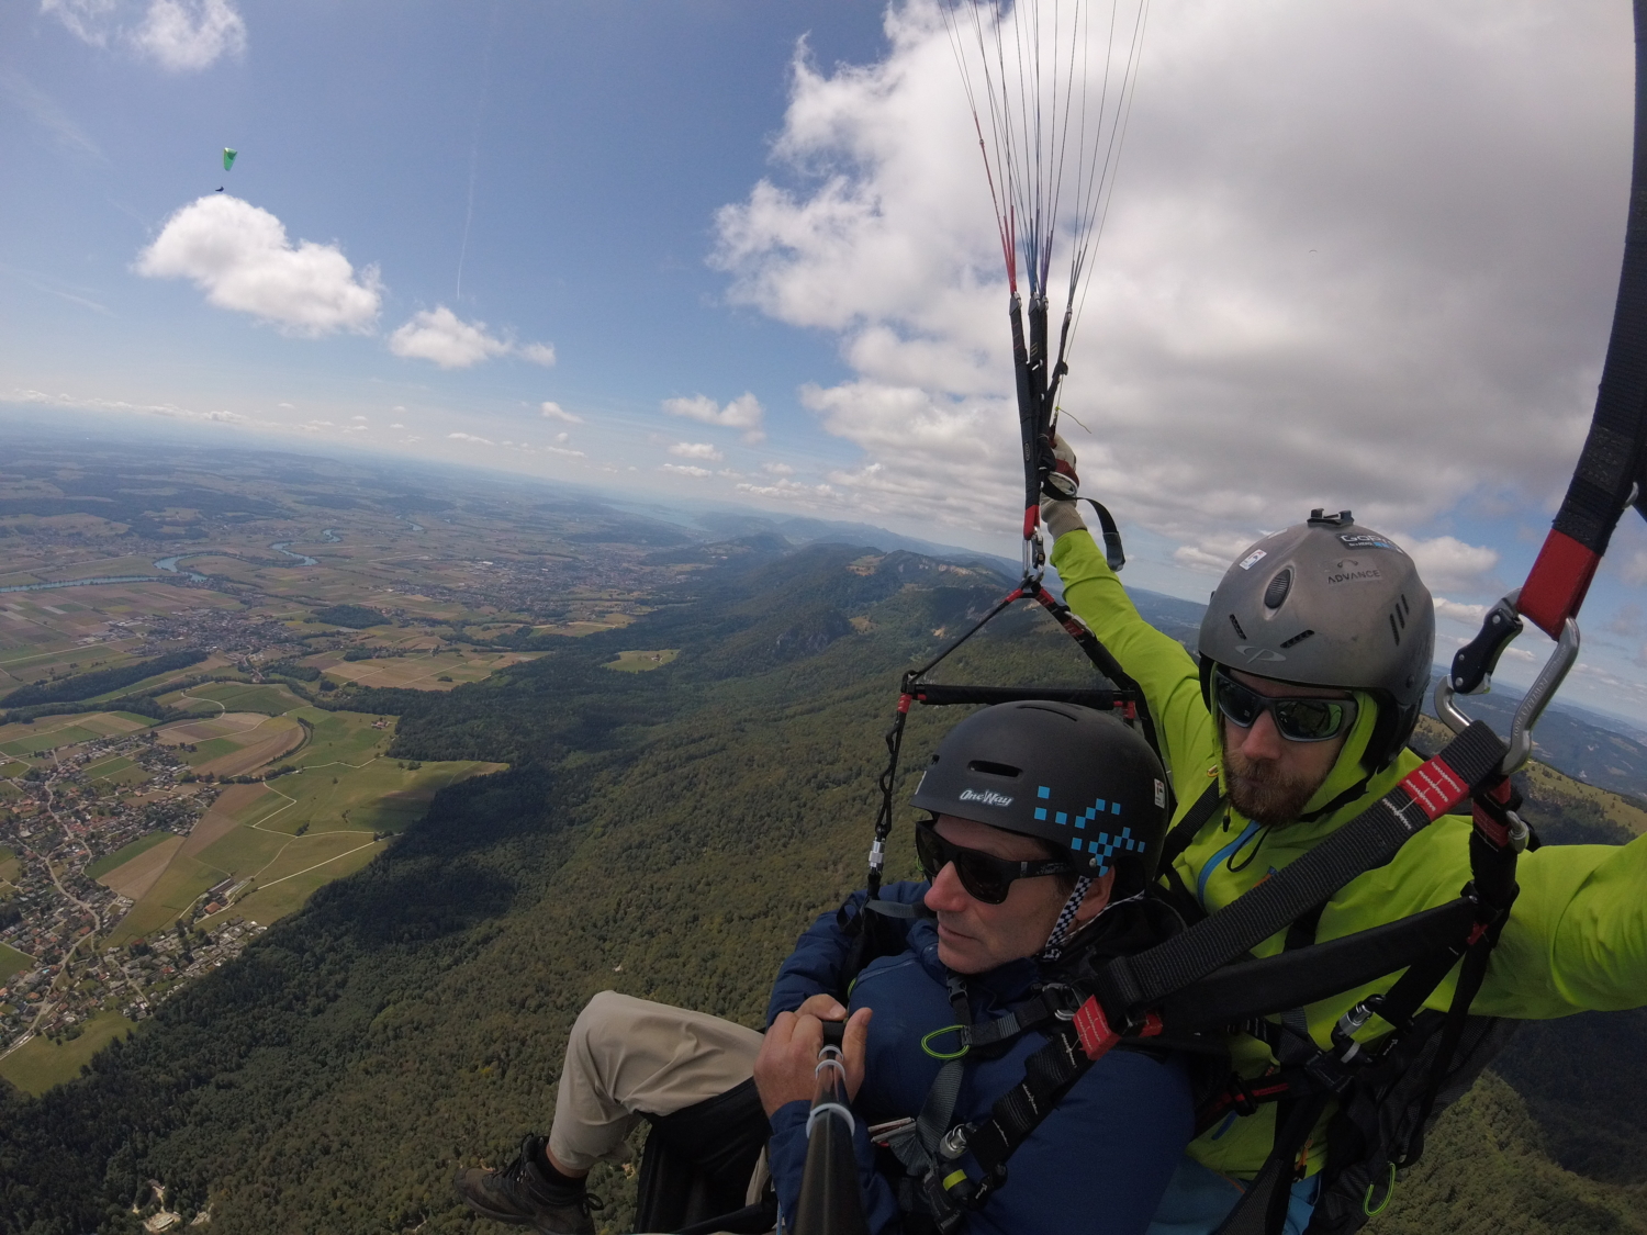
{"type": "MultiPolygon", "coordinates": [[[[833,333],[802,392],[866,514],[1010,534],[1006,285],[939,10],[797,54],[772,175],[723,207],[735,303],[833,333]]],[[[1155,8],[1062,403],[1084,489],[1209,568],[1313,506],[1415,532],[1548,502],[1583,440],[1629,176],[1629,16],[1421,0],[1155,8]],[[1461,158],[1459,151],[1469,151],[1461,158]]],[[[1067,254],[1059,252],[1054,268],[1067,254]]],[[[677,400],[708,418],[712,400],[677,400]]],[[[1481,586],[1486,550],[1426,578],[1481,586]]]]}

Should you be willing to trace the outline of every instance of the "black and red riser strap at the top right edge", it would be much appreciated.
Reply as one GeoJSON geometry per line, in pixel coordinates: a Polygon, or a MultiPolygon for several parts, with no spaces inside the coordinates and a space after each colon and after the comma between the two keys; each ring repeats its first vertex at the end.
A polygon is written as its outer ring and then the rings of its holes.
{"type": "MultiPolygon", "coordinates": [[[[1596,413],[1573,469],[1561,509],[1517,608],[1551,639],[1578,613],[1607,552],[1612,529],[1642,481],[1647,454],[1647,3],[1635,0],[1635,148],[1631,206],[1624,224],[1619,298],[1612,310],[1607,359],[1596,390],[1596,413]]],[[[1644,486],[1647,489],[1647,486],[1644,486]]],[[[1647,492],[1637,492],[1642,507],[1647,492]]]]}

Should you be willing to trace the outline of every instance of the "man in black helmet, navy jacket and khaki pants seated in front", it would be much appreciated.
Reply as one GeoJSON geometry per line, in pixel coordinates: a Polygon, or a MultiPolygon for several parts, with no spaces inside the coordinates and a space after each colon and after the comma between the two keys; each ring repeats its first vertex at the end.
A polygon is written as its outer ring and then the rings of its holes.
{"type": "Polygon", "coordinates": [[[458,1192],[501,1222],[593,1232],[585,1176],[646,1118],[677,1172],[642,1166],[639,1230],[677,1228],[680,1210],[647,1197],[670,1189],[715,1197],[703,1230],[792,1220],[824,1023],[847,1018],[871,1232],[1141,1235],[1194,1133],[1191,1069],[1148,1039],[1094,1062],[1059,976],[1176,932],[1151,891],[1164,802],[1161,764],[1113,716],[1049,701],[968,716],[914,795],[927,883],[886,889],[906,944],[863,967],[845,1006],[817,993],[840,972],[833,912],[784,963],[766,1034],[603,991],[573,1026],[547,1141],[460,1172],[458,1192]]]}

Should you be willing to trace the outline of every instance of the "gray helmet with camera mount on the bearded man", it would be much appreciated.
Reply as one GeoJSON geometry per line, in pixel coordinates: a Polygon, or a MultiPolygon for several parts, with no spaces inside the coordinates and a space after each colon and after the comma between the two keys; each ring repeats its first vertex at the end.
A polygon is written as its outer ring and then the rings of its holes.
{"type": "Polygon", "coordinates": [[[1202,687],[1219,664],[1364,690],[1379,701],[1362,756],[1375,772],[1418,723],[1435,642],[1435,603],[1413,560],[1349,510],[1313,510],[1309,522],[1265,537],[1225,571],[1201,621],[1202,687]]]}

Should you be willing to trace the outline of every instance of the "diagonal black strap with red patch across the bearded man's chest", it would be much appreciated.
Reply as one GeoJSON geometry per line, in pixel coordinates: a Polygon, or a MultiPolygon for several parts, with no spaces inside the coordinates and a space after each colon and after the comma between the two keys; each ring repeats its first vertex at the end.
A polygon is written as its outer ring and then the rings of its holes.
{"type": "Polygon", "coordinates": [[[1433,759],[1286,869],[1250,888],[1212,917],[1133,957],[1117,957],[1094,990],[1112,1016],[1136,1023],[1156,1003],[1250,952],[1497,776],[1504,743],[1474,721],[1433,759]]]}

